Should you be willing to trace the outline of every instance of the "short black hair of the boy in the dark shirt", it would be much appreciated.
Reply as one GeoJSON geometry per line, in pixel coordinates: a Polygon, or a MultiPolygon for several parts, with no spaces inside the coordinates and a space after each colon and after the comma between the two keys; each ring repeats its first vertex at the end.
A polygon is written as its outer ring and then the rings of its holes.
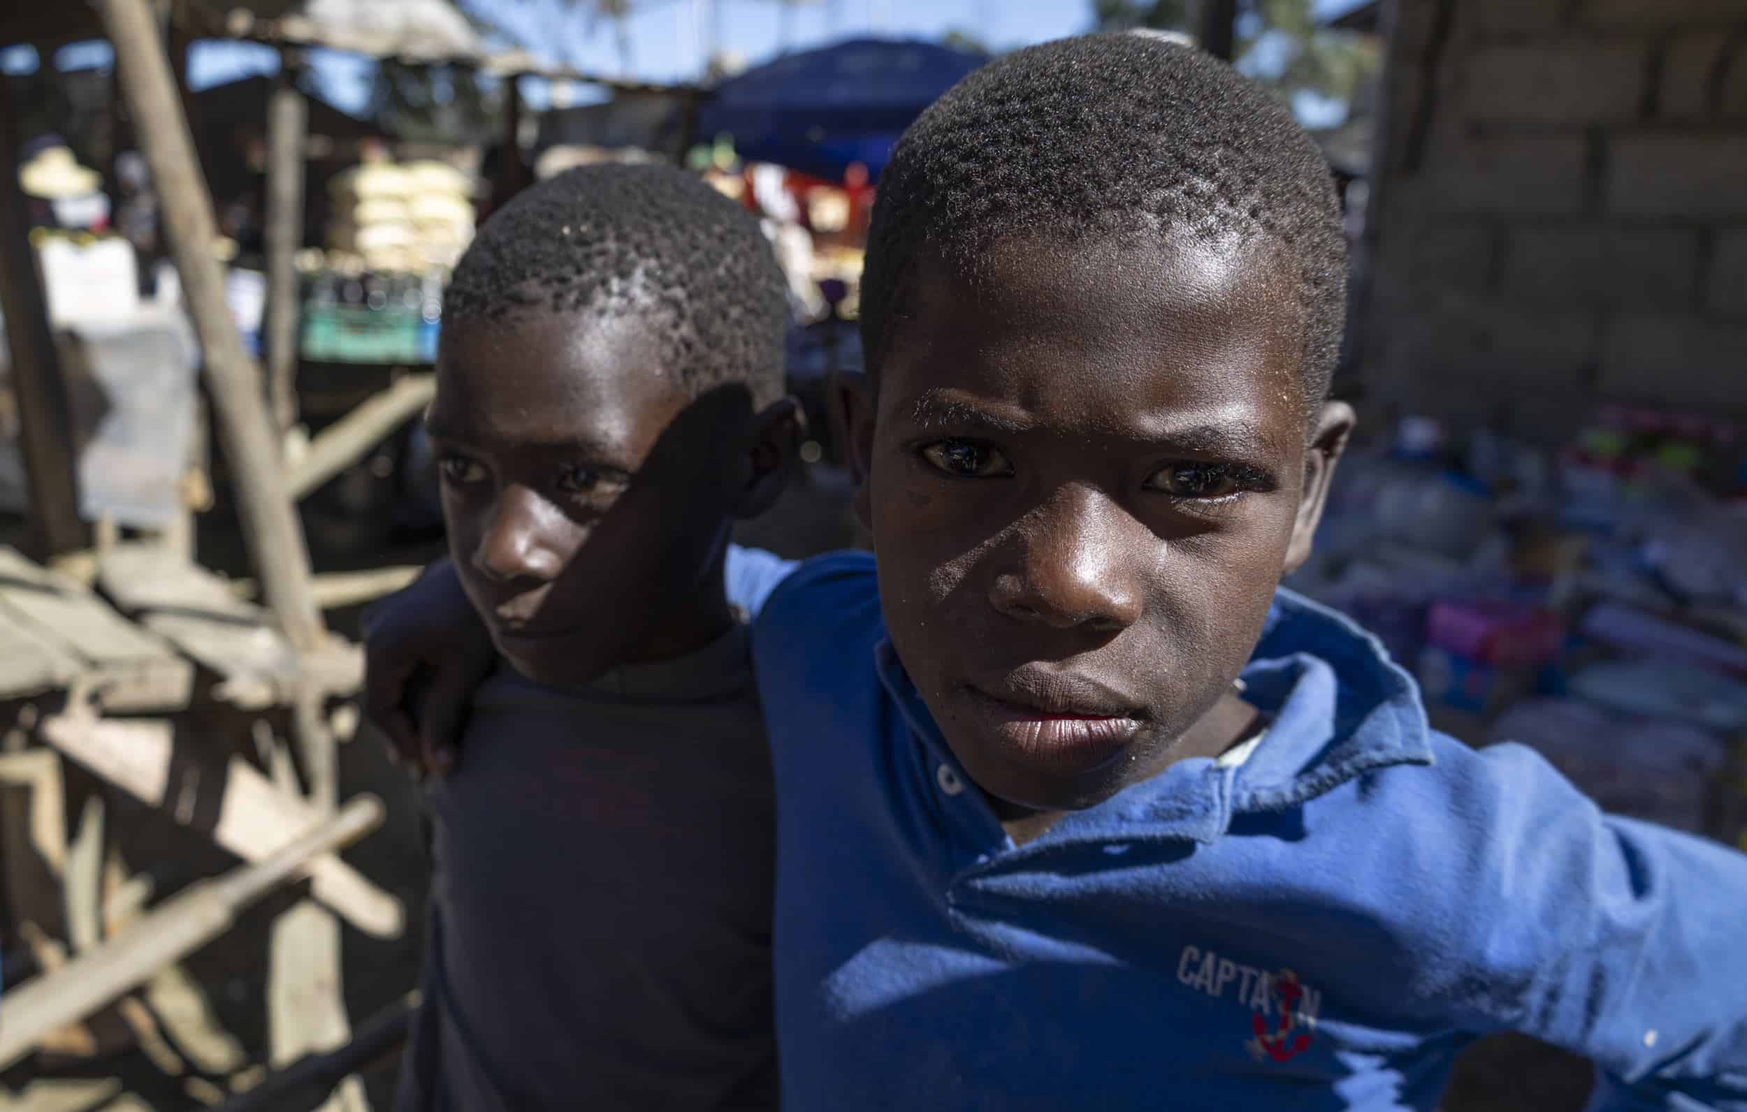
{"type": "Polygon", "coordinates": [[[683,169],[582,166],[493,213],[444,292],[444,325],[531,309],[652,312],[681,388],[783,396],[783,269],[751,213],[683,169]]]}

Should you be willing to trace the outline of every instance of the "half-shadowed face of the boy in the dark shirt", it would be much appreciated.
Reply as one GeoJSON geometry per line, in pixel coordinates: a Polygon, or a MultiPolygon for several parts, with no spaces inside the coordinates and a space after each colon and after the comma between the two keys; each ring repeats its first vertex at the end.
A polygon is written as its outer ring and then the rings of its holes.
{"type": "Polygon", "coordinates": [[[426,424],[451,557],[519,672],[570,686],[725,632],[728,527],[786,464],[744,384],[692,396],[636,314],[528,311],[445,328],[426,424]]]}

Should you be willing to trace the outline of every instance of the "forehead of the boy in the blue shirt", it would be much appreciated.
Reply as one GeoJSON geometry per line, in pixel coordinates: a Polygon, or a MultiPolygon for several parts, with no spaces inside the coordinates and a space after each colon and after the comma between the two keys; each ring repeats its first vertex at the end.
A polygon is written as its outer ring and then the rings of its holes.
{"type": "Polygon", "coordinates": [[[1038,417],[1087,408],[1302,419],[1303,312],[1267,239],[1109,236],[919,262],[879,368],[880,412],[961,389],[1038,417]],[[898,396],[901,395],[901,396],[898,396]]]}

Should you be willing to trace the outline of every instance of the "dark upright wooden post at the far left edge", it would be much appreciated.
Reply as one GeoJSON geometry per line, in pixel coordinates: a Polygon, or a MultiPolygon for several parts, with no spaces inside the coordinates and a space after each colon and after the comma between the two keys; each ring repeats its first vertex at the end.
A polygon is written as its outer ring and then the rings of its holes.
{"type": "Polygon", "coordinates": [[[5,312],[12,353],[31,555],[45,560],[84,548],[86,525],[79,518],[66,381],[54,351],[49,302],[37,276],[37,251],[30,246],[30,206],[17,183],[21,145],[12,80],[0,75],[0,178],[5,178],[0,182],[0,312],[5,312]]]}

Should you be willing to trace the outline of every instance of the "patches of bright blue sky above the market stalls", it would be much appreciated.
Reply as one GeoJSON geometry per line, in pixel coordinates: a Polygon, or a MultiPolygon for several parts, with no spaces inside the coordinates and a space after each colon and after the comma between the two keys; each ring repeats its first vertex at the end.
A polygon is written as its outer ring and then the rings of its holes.
{"type": "MultiPolygon", "coordinates": [[[[1321,16],[1357,7],[1359,0],[1314,0],[1321,16]]],[[[610,26],[589,33],[587,19],[573,14],[564,0],[465,0],[465,7],[507,19],[522,42],[550,44],[542,52],[552,61],[583,72],[620,75],[620,59],[610,26]]],[[[784,38],[784,16],[776,0],[720,0],[722,49],[753,63],[777,52],[784,38]]],[[[631,77],[643,80],[687,80],[704,63],[708,3],[701,0],[646,0],[627,21],[632,47],[631,77]]],[[[1019,47],[1087,30],[1087,0],[812,0],[790,10],[788,45],[804,49],[851,35],[910,35],[938,38],[964,30],[994,47],[1019,47]]],[[[1263,52],[1265,54],[1265,52],[1263,52]]],[[[108,44],[77,44],[56,58],[63,68],[110,63],[108,44]]],[[[1267,58],[1261,59],[1267,65],[1267,58]]],[[[189,80],[206,87],[250,73],[271,72],[276,59],[266,47],[246,44],[203,44],[192,58],[189,80]]],[[[28,52],[0,52],[0,68],[33,68],[28,52]]],[[[370,65],[360,58],[325,54],[316,59],[321,89],[342,108],[356,110],[369,91],[370,65]]],[[[529,82],[529,101],[540,106],[545,89],[529,82]]],[[[1302,100],[1298,113],[1307,124],[1338,122],[1338,105],[1302,100]]]]}

